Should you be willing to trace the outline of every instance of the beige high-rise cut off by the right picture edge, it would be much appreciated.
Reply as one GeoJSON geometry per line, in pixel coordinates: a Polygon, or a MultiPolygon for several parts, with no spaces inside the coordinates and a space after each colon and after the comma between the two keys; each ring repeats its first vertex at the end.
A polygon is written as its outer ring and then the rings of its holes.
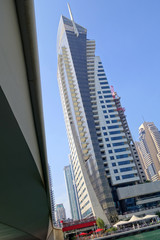
{"type": "Polygon", "coordinates": [[[160,132],[153,122],[144,122],[139,127],[139,142],[136,148],[148,180],[160,180],[160,132]]]}

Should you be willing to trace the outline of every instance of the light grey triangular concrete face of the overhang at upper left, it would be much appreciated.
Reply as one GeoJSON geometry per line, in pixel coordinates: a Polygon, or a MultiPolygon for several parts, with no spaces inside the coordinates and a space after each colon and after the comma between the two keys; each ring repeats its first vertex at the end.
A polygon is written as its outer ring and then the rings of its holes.
{"type": "Polygon", "coordinates": [[[23,46],[14,1],[1,0],[0,32],[0,85],[42,177],[23,46]]]}

